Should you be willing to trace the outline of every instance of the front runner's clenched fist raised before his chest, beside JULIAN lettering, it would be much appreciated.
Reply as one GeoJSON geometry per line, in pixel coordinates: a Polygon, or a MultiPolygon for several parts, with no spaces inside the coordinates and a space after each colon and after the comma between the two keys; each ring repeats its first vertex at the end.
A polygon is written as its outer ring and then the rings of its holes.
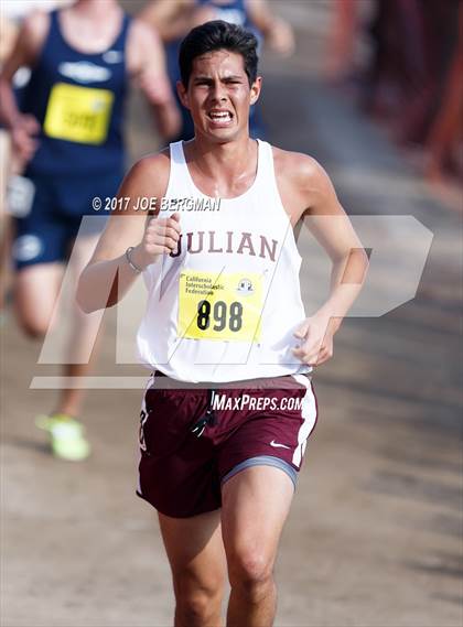
{"type": "Polygon", "coordinates": [[[146,268],[160,255],[170,255],[176,250],[181,235],[180,215],[169,218],[152,218],[148,223],[142,241],[137,247],[133,259],[146,268]]]}

